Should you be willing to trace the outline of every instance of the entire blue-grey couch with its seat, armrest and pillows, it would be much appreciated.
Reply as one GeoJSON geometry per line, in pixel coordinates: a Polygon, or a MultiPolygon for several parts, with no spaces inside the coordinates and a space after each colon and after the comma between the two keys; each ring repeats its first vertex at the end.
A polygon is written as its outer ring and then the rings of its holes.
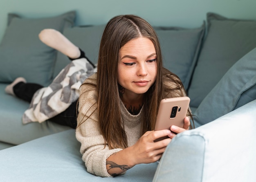
{"type": "Polygon", "coordinates": [[[178,134],[159,162],[101,178],[86,171],[74,129],[22,124],[29,103],[4,92],[20,76],[47,86],[69,63],[39,41],[45,28],[61,31],[97,64],[105,25],[74,26],[75,17],[8,15],[0,44],[0,181],[256,181],[256,21],[207,13],[195,29],[154,27],[164,66],[191,98],[195,129],[178,134]]]}

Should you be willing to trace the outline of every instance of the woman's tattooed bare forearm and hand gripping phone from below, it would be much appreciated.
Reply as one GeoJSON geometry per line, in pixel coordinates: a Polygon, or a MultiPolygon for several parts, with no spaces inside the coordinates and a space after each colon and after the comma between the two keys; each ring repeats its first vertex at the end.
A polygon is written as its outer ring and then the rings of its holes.
{"type": "Polygon", "coordinates": [[[134,145],[114,153],[107,159],[108,173],[115,176],[136,164],[156,162],[161,158],[166,146],[171,142],[171,138],[158,142],[154,142],[154,140],[169,134],[171,134],[171,131],[168,129],[146,132],[134,145]]]}

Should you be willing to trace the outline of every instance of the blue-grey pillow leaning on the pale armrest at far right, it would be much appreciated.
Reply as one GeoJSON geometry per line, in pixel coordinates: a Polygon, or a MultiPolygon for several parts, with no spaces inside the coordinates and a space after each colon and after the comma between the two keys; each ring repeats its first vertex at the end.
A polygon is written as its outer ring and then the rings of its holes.
{"type": "Polygon", "coordinates": [[[195,126],[209,123],[255,99],[256,48],[237,61],[204,98],[193,113],[195,126]]]}

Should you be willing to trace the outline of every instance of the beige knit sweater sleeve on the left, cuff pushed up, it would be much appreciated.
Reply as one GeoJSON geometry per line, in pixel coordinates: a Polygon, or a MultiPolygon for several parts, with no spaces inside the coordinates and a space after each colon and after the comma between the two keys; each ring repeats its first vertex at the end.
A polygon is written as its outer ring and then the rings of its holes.
{"type": "Polygon", "coordinates": [[[110,150],[108,145],[105,147],[98,122],[97,90],[96,86],[90,83],[96,83],[94,77],[95,75],[85,80],[80,89],[76,139],[81,143],[80,152],[87,171],[101,177],[112,177],[106,169],[106,160],[121,149],[110,150]]]}

